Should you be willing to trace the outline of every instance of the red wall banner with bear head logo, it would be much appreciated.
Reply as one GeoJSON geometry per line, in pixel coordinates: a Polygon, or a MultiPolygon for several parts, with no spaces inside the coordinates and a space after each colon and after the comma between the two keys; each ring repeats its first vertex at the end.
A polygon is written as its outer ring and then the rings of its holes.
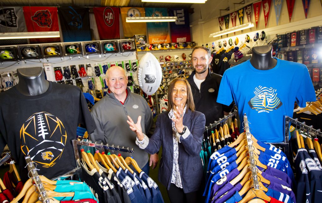
{"type": "MultiPolygon", "coordinates": [[[[57,7],[24,6],[28,32],[59,31],[57,7]]],[[[60,42],[60,38],[30,39],[31,43],[60,42]]]]}

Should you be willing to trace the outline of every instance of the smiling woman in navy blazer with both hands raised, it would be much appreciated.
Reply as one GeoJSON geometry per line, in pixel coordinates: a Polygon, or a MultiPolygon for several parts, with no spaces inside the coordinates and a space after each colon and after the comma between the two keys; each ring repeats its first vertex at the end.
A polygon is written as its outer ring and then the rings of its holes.
{"type": "Polygon", "coordinates": [[[137,134],[136,144],[147,153],[156,153],[162,145],[158,178],[166,186],[170,201],[199,202],[198,190],[204,178],[199,154],[205,116],[194,110],[190,84],[185,79],[170,83],[168,98],[167,111],[158,116],[151,138],[142,133],[141,116],[137,123],[128,116],[128,124],[137,134]]]}

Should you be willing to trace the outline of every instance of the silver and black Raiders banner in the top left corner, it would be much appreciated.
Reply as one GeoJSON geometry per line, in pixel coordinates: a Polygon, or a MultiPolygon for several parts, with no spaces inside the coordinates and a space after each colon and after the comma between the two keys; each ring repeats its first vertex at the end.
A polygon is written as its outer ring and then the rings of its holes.
{"type": "Polygon", "coordinates": [[[26,32],[24,13],[20,6],[0,8],[0,32],[26,32]]]}

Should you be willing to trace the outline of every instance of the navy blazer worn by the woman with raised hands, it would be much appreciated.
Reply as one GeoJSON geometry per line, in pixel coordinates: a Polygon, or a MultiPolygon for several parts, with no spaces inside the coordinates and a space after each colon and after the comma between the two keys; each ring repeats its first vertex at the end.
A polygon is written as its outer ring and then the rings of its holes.
{"type": "MultiPolygon", "coordinates": [[[[169,112],[161,113],[156,120],[156,129],[144,149],[149,154],[159,151],[162,145],[159,181],[170,189],[173,161],[172,120],[169,112]]],[[[180,137],[178,165],[182,187],[185,193],[199,190],[204,177],[201,158],[199,156],[202,145],[206,119],[203,113],[187,109],[183,116],[183,124],[190,134],[186,139],[180,137]]]]}

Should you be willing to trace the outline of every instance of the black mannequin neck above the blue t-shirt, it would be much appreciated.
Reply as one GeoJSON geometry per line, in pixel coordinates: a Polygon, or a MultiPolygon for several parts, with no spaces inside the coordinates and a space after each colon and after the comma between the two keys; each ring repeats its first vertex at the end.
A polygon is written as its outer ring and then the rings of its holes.
{"type": "Polygon", "coordinates": [[[272,46],[253,47],[250,59],[251,65],[258,70],[269,70],[276,66],[277,60],[272,57],[272,46]]]}

